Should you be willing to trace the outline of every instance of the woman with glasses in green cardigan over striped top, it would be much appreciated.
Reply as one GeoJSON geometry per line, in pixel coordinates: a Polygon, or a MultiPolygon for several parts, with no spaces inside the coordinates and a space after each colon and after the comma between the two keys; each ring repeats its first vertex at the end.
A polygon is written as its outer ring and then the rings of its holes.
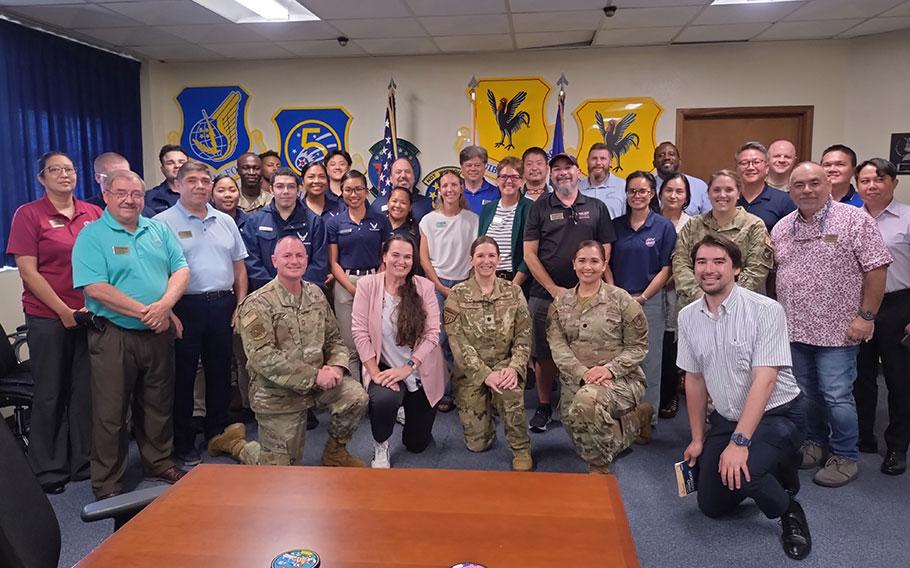
{"type": "Polygon", "coordinates": [[[521,198],[521,160],[508,156],[499,162],[496,182],[500,198],[483,206],[480,234],[492,237],[499,247],[496,276],[521,286],[528,278],[524,263],[524,230],[533,202],[521,198]]]}

